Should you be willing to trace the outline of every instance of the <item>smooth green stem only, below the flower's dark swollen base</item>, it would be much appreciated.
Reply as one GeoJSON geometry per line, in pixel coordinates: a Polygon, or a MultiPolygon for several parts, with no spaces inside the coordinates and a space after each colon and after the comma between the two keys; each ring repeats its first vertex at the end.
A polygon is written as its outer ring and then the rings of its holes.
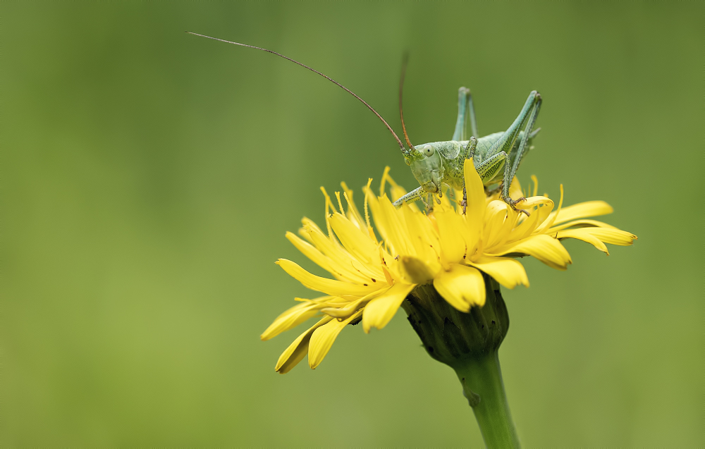
{"type": "Polygon", "coordinates": [[[519,448],[519,436],[504,393],[498,353],[466,360],[462,367],[455,368],[455,374],[475,414],[485,445],[519,448]]]}

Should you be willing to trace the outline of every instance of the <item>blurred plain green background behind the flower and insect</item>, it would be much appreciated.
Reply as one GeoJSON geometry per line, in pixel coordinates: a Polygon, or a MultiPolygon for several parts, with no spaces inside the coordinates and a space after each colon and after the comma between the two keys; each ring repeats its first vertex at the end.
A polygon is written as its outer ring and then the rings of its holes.
{"type": "MultiPolygon", "coordinates": [[[[539,190],[604,199],[634,247],[567,242],[505,290],[505,386],[527,446],[705,444],[701,2],[4,2],[0,48],[0,444],[482,445],[455,374],[403,312],[348,328],[286,376],[300,331],[259,334],[295,295],[275,264],[319,223],[319,186],[360,192],[398,148],[479,130],[530,90],[539,190]]],[[[318,271],[317,271],[318,272],[318,271]]]]}

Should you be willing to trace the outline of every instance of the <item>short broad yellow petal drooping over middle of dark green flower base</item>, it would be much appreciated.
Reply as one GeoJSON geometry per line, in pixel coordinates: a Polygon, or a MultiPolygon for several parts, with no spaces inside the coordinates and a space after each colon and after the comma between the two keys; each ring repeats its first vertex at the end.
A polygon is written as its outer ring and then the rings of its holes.
{"type": "Polygon", "coordinates": [[[453,264],[434,278],[434,287],[448,304],[460,312],[470,312],[474,305],[483,306],[485,285],[482,273],[472,266],[453,264]]]}

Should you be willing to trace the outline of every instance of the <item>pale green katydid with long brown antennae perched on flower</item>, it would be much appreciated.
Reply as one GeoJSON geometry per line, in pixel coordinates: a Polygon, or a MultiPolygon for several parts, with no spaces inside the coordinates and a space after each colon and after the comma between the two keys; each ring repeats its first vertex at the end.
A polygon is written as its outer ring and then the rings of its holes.
{"type": "MultiPolygon", "coordinates": [[[[472,104],[472,95],[470,90],[465,87],[460,87],[458,91],[458,119],[455,123],[455,132],[452,140],[443,142],[429,142],[422,145],[412,145],[409,136],[406,132],[404,124],[404,114],[402,111],[402,87],[404,81],[405,70],[402,70],[402,77],[399,86],[399,112],[401,116],[402,128],[404,137],[408,145],[408,149],[404,147],[399,137],[396,135],[391,126],[382,118],[372,106],[369,106],[362,98],[358,97],[353,91],[343,86],[341,83],[333,80],[327,75],[310,68],[294,59],[279,54],[276,51],[255,47],[254,45],[240,44],[216,37],[200,35],[195,32],[187,32],[190,35],[207,37],[227,44],[235,44],[240,47],[250,47],[252,49],[267,51],[271,54],[276,54],[283,59],[287,59],[299,66],[307,68],[314,73],[318,73],[327,80],[341,87],[345,92],[353,95],[360,100],[367,108],[384,123],[387,129],[396,139],[401,152],[404,156],[406,164],[411,167],[411,171],[419,181],[420,187],[400,197],[394,202],[396,207],[401,207],[405,203],[415,202],[418,199],[422,200],[427,207],[432,207],[433,200],[439,202],[439,197],[443,196],[443,188],[447,188],[452,195],[453,188],[465,192],[465,180],[463,178],[463,165],[465,159],[472,159],[475,169],[482,179],[485,187],[498,185],[501,188],[502,199],[509,204],[513,209],[521,211],[527,215],[529,212],[523,209],[517,209],[516,204],[524,200],[524,198],[511,199],[509,197],[509,187],[514,178],[514,175],[519,168],[522,158],[532,148],[532,139],[537,135],[541,128],[533,130],[534,123],[541,109],[541,95],[537,91],[532,91],[527,98],[522,111],[510,127],[500,133],[493,133],[484,137],[477,137],[477,120],[475,118],[474,106],[472,104]],[[467,122],[470,121],[472,136],[467,135],[467,122]],[[500,176],[500,173],[502,175],[500,176]],[[425,197],[425,198],[424,198],[425,197]]],[[[406,63],[404,63],[404,68],[406,63]]],[[[465,210],[465,197],[462,199],[463,210],[465,210]]]]}

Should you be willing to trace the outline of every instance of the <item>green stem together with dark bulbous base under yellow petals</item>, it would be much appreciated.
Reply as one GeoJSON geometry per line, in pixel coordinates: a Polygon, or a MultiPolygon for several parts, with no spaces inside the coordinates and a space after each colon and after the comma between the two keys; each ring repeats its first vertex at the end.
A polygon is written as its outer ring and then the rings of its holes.
{"type": "Polygon", "coordinates": [[[460,312],[432,285],[419,285],[403,302],[408,319],[434,359],[455,370],[488,448],[518,448],[498,350],[509,314],[498,283],[483,274],[486,302],[460,312]]]}

